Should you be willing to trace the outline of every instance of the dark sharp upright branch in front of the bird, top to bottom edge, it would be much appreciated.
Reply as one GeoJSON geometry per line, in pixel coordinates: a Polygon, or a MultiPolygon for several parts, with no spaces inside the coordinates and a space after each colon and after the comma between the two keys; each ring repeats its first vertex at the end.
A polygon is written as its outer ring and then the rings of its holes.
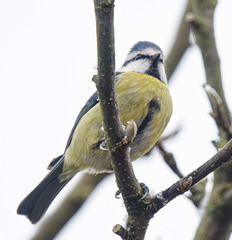
{"type": "MultiPolygon", "coordinates": [[[[142,189],[134,175],[130,162],[128,147],[133,139],[125,137],[116,98],[114,79],[114,1],[95,0],[94,3],[98,46],[96,87],[117,186],[128,212],[128,233],[126,235],[129,236],[127,239],[144,239],[150,218],[141,217],[144,215],[144,209],[147,206],[141,201],[142,189]]],[[[127,132],[136,132],[135,128],[132,121],[127,128],[127,132]]],[[[121,231],[116,232],[118,234],[121,231]]],[[[125,231],[122,232],[125,235],[125,231]]]]}

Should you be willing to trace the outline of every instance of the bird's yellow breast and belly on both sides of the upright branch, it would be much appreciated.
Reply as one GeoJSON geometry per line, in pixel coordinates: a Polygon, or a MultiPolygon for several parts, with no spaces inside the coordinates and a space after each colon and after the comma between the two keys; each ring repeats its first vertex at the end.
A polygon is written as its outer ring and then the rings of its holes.
{"type": "MultiPolygon", "coordinates": [[[[138,129],[142,129],[131,144],[130,156],[134,161],[154,146],[169,122],[171,97],[167,86],[160,80],[136,72],[122,73],[116,83],[116,91],[122,124],[126,127],[133,119],[138,129]],[[159,104],[154,114],[149,113],[151,101],[159,104]],[[146,122],[148,114],[151,117],[146,122]]],[[[86,168],[95,173],[112,170],[109,152],[99,147],[105,137],[102,127],[100,105],[96,104],[82,117],[74,131],[72,142],[65,152],[64,178],[86,168]]]]}

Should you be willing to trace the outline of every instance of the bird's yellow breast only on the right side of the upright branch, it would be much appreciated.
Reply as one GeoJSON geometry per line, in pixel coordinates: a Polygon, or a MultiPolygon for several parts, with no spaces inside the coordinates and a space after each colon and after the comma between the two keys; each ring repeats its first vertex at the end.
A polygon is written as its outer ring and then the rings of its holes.
{"type": "Polygon", "coordinates": [[[151,101],[156,101],[160,107],[154,112],[140,139],[135,139],[132,144],[133,161],[148,152],[164,131],[172,114],[172,100],[164,83],[152,76],[136,72],[122,74],[117,83],[117,95],[121,120],[125,126],[131,119],[140,126],[148,114],[151,101]]]}

